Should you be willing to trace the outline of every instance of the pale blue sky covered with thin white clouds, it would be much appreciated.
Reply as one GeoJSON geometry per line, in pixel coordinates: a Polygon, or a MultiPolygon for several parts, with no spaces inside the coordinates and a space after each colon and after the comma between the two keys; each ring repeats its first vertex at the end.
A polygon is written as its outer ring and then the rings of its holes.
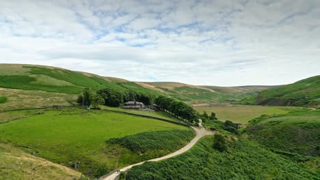
{"type": "Polygon", "coordinates": [[[0,63],[134,81],[289,84],[320,74],[320,1],[2,0],[0,63]]]}

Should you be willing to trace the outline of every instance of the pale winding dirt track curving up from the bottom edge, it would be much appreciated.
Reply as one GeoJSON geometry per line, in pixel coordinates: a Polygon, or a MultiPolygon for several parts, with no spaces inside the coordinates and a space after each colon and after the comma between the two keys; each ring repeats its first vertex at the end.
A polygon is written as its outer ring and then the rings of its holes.
{"type": "MultiPolygon", "coordinates": [[[[200,123],[199,123],[199,126],[200,126],[200,130],[197,129],[196,127],[191,127],[195,132],[196,132],[196,137],[193,138],[189,144],[187,144],[185,147],[179,149],[178,151],[175,151],[174,153],[170,153],[168,155],[165,155],[163,157],[158,157],[158,158],[155,158],[153,160],[148,160],[148,161],[144,161],[144,162],[157,162],[157,161],[160,161],[160,160],[165,160],[165,159],[168,159],[170,157],[174,157],[176,155],[179,155],[181,153],[184,153],[185,151],[188,151],[189,149],[191,149],[191,147],[193,147],[194,145],[196,145],[196,142],[198,142],[198,140],[200,138],[202,138],[203,136],[209,136],[209,135],[213,135],[214,133],[213,132],[209,132],[207,130],[204,129],[204,127],[201,125],[202,121],[200,120],[200,123]]],[[[126,166],[125,168],[122,168],[120,169],[120,171],[126,171],[126,170],[129,170],[131,169],[133,166],[137,166],[139,164],[143,164],[144,162],[139,162],[137,164],[132,164],[130,166],[126,166]]],[[[114,180],[116,179],[116,177],[118,177],[120,174],[117,173],[117,172],[114,172],[112,173],[111,175],[108,175],[108,176],[103,176],[101,177],[100,179],[101,180],[114,180]]]]}

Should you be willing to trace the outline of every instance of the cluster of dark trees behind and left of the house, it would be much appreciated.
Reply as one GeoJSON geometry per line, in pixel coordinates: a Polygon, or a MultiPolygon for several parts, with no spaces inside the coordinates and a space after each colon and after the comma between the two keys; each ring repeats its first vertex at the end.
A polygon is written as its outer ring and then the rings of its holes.
{"type": "Polygon", "coordinates": [[[101,104],[118,107],[128,101],[143,102],[146,105],[150,105],[154,100],[154,95],[137,93],[135,91],[118,92],[107,88],[92,93],[89,88],[85,88],[83,93],[78,96],[77,103],[87,107],[91,105],[97,107],[101,104]]]}

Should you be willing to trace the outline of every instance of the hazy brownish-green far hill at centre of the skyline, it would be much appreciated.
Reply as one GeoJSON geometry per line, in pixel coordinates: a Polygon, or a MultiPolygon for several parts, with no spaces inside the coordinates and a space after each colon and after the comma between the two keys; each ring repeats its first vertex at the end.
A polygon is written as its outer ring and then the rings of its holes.
{"type": "Polygon", "coordinates": [[[189,104],[232,102],[256,95],[269,87],[213,87],[193,86],[179,82],[137,82],[148,89],[159,91],[189,104]]]}

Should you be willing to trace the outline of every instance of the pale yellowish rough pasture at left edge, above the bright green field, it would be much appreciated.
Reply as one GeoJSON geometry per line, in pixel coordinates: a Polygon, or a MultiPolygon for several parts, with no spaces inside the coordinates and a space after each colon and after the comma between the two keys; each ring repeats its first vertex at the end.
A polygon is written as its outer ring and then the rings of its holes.
{"type": "Polygon", "coordinates": [[[77,100],[77,95],[66,93],[6,88],[0,88],[0,96],[8,97],[8,100],[5,103],[0,103],[0,111],[21,108],[52,107],[53,105],[70,106],[71,104],[67,102],[68,100],[77,100]]]}

